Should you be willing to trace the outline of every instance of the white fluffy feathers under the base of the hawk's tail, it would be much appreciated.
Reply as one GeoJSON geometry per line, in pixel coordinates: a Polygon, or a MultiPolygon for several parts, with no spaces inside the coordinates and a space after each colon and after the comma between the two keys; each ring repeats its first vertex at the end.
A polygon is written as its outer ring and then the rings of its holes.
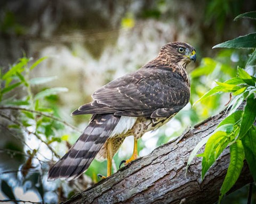
{"type": "Polygon", "coordinates": [[[137,117],[121,116],[109,138],[113,138],[119,134],[125,134],[127,131],[132,129],[132,126],[135,124],[136,120],[137,117]]]}

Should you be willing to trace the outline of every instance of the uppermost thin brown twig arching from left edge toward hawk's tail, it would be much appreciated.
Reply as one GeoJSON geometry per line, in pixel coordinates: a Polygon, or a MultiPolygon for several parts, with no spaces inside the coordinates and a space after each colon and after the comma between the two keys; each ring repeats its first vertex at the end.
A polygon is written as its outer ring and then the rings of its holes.
{"type": "Polygon", "coordinates": [[[31,112],[31,113],[36,113],[36,114],[39,114],[39,115],[43,115],[45,117],[49,117],[49,118],[52,118],[53,120],[55,121],[58,121],[60,123],[63,123],[67,126],[69,126],[69,128],[79,132],[79,133],[82,133],[82,131],[80,131],[79,129],[77,129],[75,126],[67,123],[66,121],[63,121],[61,120],[60,118],[58,117],[55,117],[54,115],[50,115],[50,114],[46,114],[46,113],[43,113],[41,111],[34,111],[34,110],[31,110],[31,109],[27,109],[27,108],[21,108],[21,107],[15,107],[15,106],[0,106],[0,109],[11,109],[11,110],[16,110],[16,111],[27,111],[27,112],[31,112]]]}

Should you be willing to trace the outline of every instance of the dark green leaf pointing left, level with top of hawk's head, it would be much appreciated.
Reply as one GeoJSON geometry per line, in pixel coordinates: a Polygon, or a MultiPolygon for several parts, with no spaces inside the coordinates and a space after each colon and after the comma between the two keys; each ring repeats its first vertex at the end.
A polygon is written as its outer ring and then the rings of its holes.
{"type": "Polygon", "coordinates": [[[256,48],[256,33],[240,36],[213,46],[214,48],[256,48]]]}

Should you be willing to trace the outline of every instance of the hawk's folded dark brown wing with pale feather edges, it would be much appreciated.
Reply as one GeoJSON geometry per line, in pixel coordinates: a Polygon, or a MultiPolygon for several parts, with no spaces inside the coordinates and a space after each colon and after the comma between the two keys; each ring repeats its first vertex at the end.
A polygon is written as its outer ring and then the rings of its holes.
{"type": "Polygon", "coordinates": [[[168,69],[140,69],[94,92],[94,101],[79,107],[73,115],[167,117],[188,103],[189,94],[189,87],[179,74],[168,69]]]}

